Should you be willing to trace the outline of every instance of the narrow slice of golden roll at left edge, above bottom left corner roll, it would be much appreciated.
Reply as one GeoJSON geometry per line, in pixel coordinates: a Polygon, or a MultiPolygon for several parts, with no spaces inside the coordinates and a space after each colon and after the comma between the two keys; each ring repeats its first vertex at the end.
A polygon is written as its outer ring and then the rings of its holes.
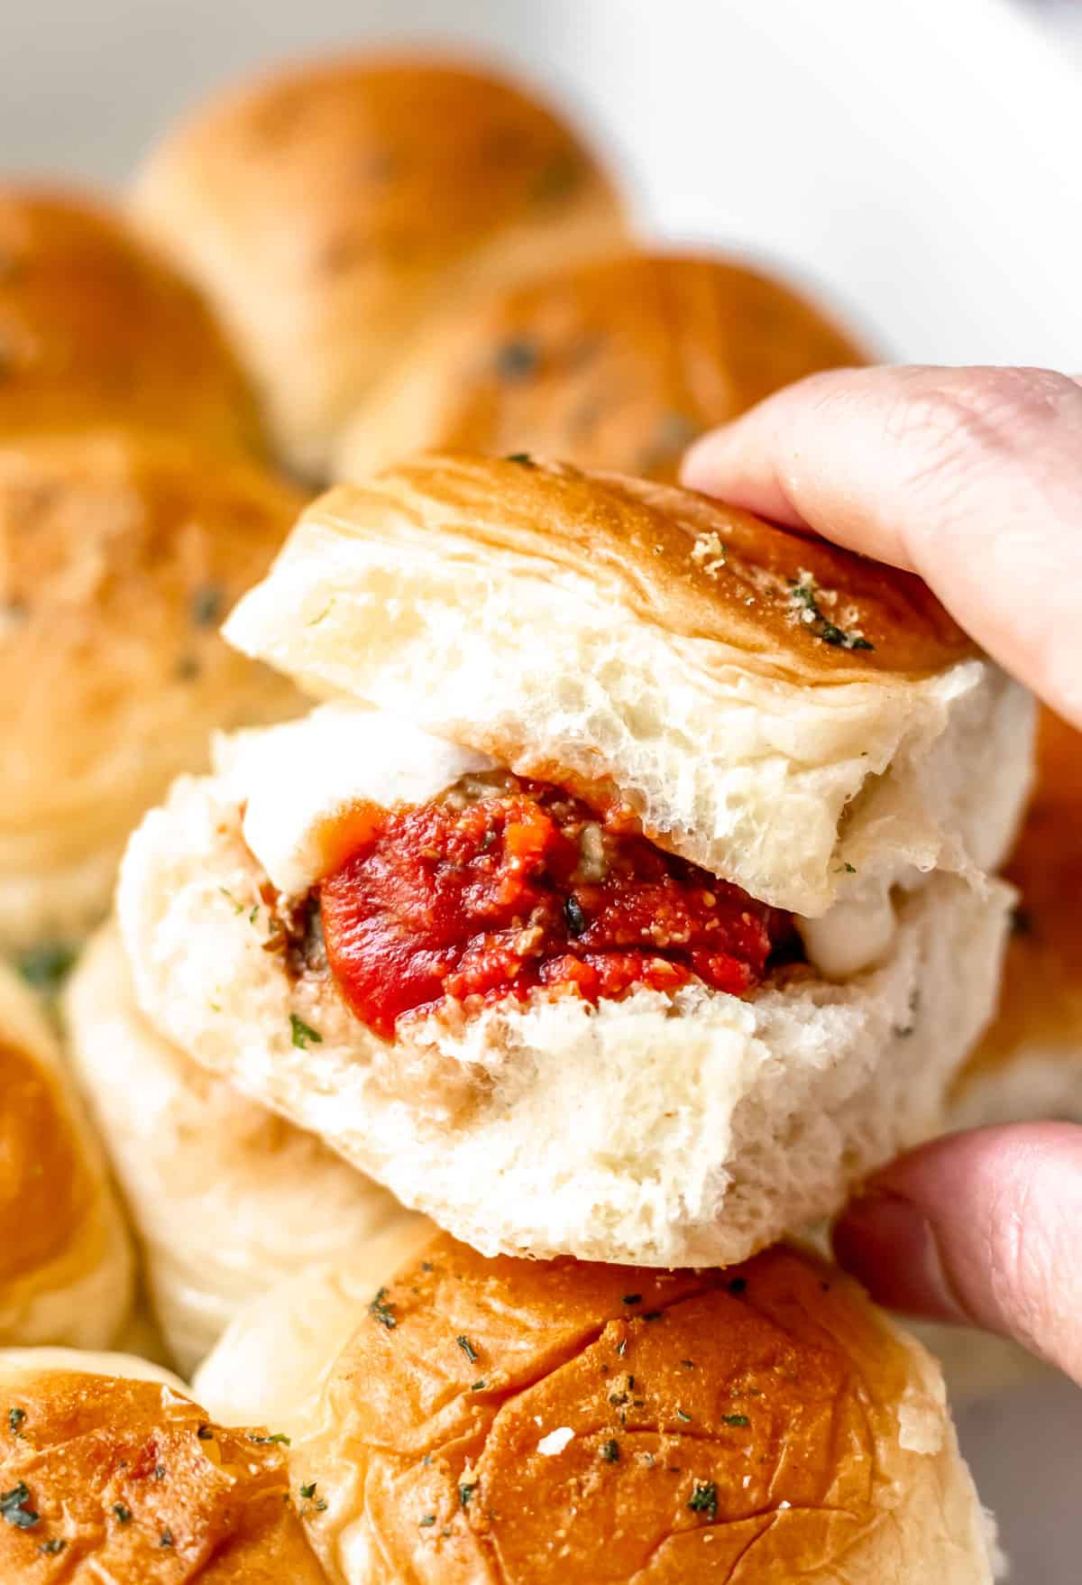
{"type": "Polygon", "coordinates": [[[131,1254],[105,1160],[36,1000],[0,964],[0,1346],[108,1347],[131,1254]]]}

